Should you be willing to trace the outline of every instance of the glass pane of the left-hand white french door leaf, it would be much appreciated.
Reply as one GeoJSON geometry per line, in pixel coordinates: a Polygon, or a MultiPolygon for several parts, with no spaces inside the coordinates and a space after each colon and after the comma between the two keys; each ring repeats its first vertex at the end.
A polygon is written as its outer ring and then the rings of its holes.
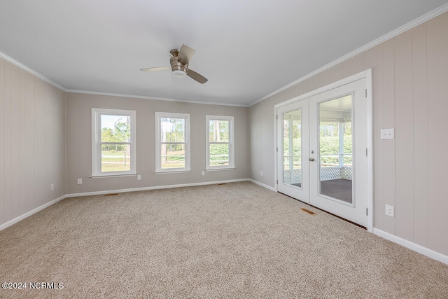
{"type": "Polygon", "coordinates": [[[302,109],[283,113],[283,183],[302,188],[302,109]]]}

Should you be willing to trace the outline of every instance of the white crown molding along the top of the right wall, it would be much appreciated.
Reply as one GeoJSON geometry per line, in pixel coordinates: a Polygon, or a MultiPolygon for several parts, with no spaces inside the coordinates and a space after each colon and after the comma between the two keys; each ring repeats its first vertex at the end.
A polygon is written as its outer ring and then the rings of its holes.
{"type": "Polygon", "coordinates": [[[435,10],[430,11],[429,13],[426,13],[422,15],[419,18],[416,18],[415,20],[402,25],[401,27],[398,27],[397,29],[389,32],[388,34],[385,34],[384,36],[379,37],[378,39],[375,39],[374,41],[371,41],[370,43],[367,43],[366,45],[342,56],[339,57],[337,60],[334,60],[330,62],[329,64],[325,64],[323,67],[316,69],[315,71],[312,71],[311,73],[303,76],[302,78],[297,79],[296,81],[289,83],[288,85],[283,86],[282,88],[279,88],[278,90],[275,90],[274,92],[269,93],[269,95],[265,95],[265,97],[262,97],[261,99],[256,100],[255,102],[252,102],[251,104],[248,104],[248,106],[253,106],[259,102],[264,101],[265,99],[268,99],[269,97],[272,97],[274,95],[279,94],[283,90],[287,90],[288,88],[296,85],[297,83],[303,82],[307,80],[308,78],[311,78],[312,76],[316,76],[317,74],[321,73],[322,71],[325,71],[327,69],[330,69],[331,67],[334,67],[335,65],[344,62],[345,60],[349,60],[352,57],[355,57],[356,55],[365,52],[366,50],[369,50],[370,48],[373,48],[374,46],[378,46],[380,43],[384,43],[384,41],[388,41],[389,39],[392,39],[395,36],[398,36],[402,34],[403,32],[407,32],[407,30],[412,29],[414,27],[417,27],[424,22],[428,22],[428,20],[431,20],[438,15],[442,15],[442,13],[446,13],[448,11],[448,4],[444,4],[440,6],[439,8],[435,8],[435,10]]]}

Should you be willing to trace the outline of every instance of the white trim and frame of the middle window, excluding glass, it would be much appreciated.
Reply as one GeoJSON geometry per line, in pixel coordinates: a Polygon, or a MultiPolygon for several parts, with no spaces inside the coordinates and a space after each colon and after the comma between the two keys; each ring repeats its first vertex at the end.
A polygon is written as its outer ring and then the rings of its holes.
{"type": "Polygon", "coordinates": [[[190,172],[190,114],[188,113],[155,113],[155,173],[174,173],[174,172],[190,172]],[[161,118],[185,118],[185,167],[162,169],[162,157],[160,148],[162,141],[160,140],[160,119],[161,118]]]}

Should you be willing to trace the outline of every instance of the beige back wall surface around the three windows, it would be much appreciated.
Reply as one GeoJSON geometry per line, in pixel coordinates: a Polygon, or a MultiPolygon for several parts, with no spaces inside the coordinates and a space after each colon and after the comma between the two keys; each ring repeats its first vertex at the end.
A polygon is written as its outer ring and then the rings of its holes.
{"type": "Polygon", "coordinates": [[[67,194],[248,179],[248,108],[67,93],[66,158],[67,194]],[[89,178],[92,172],[92,108],[137,111],[137,173],[141,174],[141,181],[137,181],[136,176],[89,178]],[[154,173],[156,111],[190,114],[191,172],[157,175],[154,173]],[[205,169],[207,114],[235,117],[236,169],[206,172],[205,176],[202,176],[201,172],[205,169]],[[83,179],[82,185],[77,184],[78,178],[83,179]]]}

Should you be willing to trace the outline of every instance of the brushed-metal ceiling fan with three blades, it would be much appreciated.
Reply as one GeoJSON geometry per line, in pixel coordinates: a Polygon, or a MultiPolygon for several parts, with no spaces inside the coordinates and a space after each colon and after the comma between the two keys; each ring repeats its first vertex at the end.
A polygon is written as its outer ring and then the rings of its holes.
{"type": "Polygon", "coordinates": [[[183,78],[185,76],[189,76],[193,80],[202,84],[208,81],[208,79],[201,74],[197,74],[192,69],[188,69],[188,64],[190,63],[193,55],[195,55],[194,49],[186,45],[182,45],[181,49],[173,49],[169,51],[169,54],[171,54],[171,58],[169,59],[169,64],[171,64],[171,67],[148,67],[147,69],[140,69],[140,71],[162,71],[164,69],[172,69],[173,74],[176,77],[183,78]]]}

